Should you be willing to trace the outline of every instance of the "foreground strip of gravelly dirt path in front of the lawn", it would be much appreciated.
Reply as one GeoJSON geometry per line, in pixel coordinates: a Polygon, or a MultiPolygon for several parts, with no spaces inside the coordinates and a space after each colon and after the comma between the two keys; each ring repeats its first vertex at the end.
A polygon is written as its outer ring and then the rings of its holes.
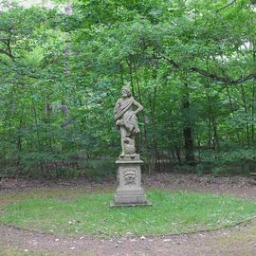
{"type": "MultiPolygon", "coordinates": [[[[254,256],[256,222],[233,229],[165,237],[97,240],[88,236],[56,236],[0,227],[3,254],[17,250],[35,255],[232,255],[254,256]]],[[[5,254],[7,253],[7,254],[5,254]]],[[[17,254],[15,254],[17,255],[17,254]]],[[[18,254],[19,255],[19,254],[18,254]]]]}

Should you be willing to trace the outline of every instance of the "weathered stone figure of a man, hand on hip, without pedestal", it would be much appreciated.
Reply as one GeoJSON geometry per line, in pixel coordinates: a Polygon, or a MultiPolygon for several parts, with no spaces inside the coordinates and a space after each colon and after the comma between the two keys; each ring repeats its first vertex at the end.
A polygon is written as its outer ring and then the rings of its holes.
{"type": "Polygon", "coordinates": [[[119,127],[121,134],[120,156],[136,153],[135,137],[139,133],[136,114],[142,109],[143,106],[132,97],[128,86],[123,86],[121,88],[121,98],[114,108],[116,125],[119,127]],[[134,110],[134,106],[137,107],[136,110],[134,110]]]}

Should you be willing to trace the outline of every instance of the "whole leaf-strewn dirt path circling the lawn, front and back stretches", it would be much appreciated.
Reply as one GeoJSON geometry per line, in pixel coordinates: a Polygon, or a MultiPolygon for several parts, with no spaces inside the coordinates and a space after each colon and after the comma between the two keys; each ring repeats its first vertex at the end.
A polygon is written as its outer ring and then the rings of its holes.
{"type": "MultiPolygon", "coordinates": [[[[228,193],[256,200],[256,186],[247,178],[212,178],[210,176],[158,174],[144,178],[147,187],[192,192],[228,193]]],[[[30,188],[48,187],[102,188],[86,181],[39,182],[4,180],[2,191],[17,192],[30,188]]],[[[145,256],[198,256],[198,255],[256,255],[256,220],[232,229],[161,237],[123,237],[119,240],[99,240],[91,236],[57,236],[7,226],[0,227],[0,255],[145,255],[145,256]]]]}

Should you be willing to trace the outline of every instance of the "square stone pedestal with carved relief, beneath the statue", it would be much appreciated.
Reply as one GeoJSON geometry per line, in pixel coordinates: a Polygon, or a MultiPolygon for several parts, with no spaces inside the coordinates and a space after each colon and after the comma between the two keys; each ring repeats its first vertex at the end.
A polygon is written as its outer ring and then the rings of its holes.
{"type": "Polygon", "coordinates": [[[119,157],[116,163],[118,165],[119,187],[110,206],[151,205],[141,187],[140,165],[143,161],[139,159],[139,155],[119,157]]]}

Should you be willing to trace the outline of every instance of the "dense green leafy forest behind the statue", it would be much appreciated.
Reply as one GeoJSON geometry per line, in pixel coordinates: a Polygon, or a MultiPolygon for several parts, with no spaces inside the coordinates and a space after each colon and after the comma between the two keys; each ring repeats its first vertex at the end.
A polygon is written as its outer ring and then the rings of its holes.
{"type": "Polygon", "coordinates": [[[0,2],[0,175],[102,179],[113,109],[144,106],[143,172],[256,167],[256,1],[0,2]]]}

